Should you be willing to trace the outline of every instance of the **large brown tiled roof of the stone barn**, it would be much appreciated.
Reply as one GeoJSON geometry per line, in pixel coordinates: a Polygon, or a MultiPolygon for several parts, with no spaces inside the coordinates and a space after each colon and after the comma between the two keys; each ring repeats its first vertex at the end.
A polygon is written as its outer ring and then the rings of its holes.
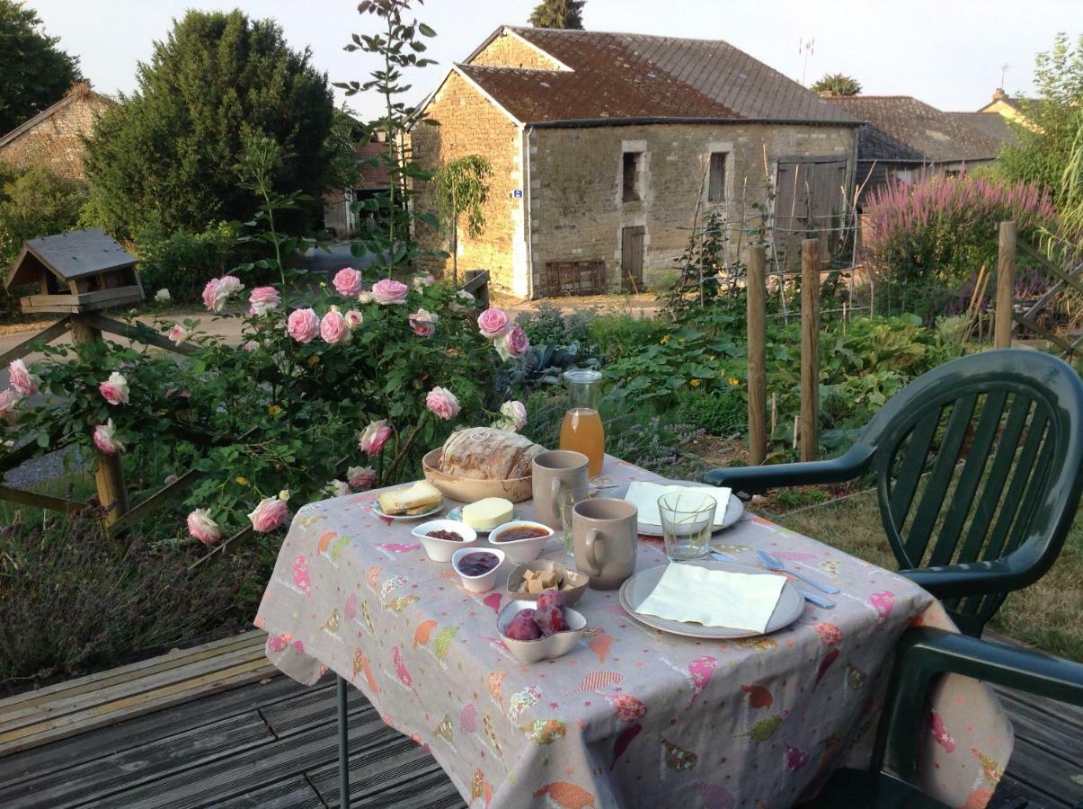
{"type": "Polygon", "coordinates": [[[571,69],[457,67],[526,123],[658,118],[858,123],[845,110],[722,41],[507,30],[571,69]]]}

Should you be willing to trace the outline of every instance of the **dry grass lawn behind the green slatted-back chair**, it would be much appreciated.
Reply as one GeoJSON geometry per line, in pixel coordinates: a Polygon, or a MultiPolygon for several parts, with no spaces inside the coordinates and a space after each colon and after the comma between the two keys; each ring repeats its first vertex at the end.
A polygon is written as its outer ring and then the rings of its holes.
{"type": "MultiPolygon", "coordinates": [[[[880,524],[876,495],[764,512],[792,531],[882,567],[896,564],[880,524]]],[[[1083,662],[1083,521],[1077,519],[1053,569],[1030,587],[1013,592],[987,627],[1021,643],[1083,662]]]]}

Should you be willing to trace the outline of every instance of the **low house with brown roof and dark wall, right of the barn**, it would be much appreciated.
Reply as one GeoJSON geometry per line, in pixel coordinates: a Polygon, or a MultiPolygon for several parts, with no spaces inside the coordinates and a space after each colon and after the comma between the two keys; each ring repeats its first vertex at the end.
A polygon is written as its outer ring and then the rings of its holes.
{"type": "Polygon", "coordinates": [[[858,132],[857,182],[867,194],[924,170],[957,174],[996,159],[1002,138],[909,95],[831,96],[865,121],[858,132]]]}

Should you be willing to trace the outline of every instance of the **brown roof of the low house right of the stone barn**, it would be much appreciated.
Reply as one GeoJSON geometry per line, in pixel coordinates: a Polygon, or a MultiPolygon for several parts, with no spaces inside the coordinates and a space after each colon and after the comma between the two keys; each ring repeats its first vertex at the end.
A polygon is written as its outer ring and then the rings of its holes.
{"type": "Polygon", "coordinates": [[[833,96],[832,104],[867,126],[858,133],[858,159],[954,162],[996,157],[1001,141],[909,95],[833,96]]]}

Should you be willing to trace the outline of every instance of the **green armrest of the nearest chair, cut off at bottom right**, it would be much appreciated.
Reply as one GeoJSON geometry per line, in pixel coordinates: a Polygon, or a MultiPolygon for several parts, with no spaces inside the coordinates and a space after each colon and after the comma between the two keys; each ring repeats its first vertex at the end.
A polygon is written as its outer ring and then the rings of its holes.
{"type": "Polygon", "coordinates": [[[932,678],[945,671],[1083,705],[1083,664],[944,629],[911,629],[899,643],[874,767],[914,782],[926,695],[932,678]]]}

